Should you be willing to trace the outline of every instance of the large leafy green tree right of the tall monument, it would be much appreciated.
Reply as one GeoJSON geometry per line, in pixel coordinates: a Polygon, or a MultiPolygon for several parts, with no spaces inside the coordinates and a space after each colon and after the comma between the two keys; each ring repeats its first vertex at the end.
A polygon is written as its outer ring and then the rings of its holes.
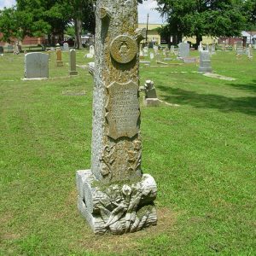
{"type": "Polygon", "coordinates": [[[182,36],[239,36],[246,25],[242,0],[157,0],[162,15],[166,15],[169,31],[178,41],[182,36]]]}

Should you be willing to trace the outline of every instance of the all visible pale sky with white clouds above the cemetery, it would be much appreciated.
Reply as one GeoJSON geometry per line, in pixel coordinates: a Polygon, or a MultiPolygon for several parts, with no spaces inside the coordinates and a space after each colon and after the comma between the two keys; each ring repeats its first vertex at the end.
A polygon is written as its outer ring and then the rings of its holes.
{"type": "MultiPolygon", "coordinates": [[[[11,7],[15,4],[15,0],[0,0],[0,9],[3,7],[11,7]]],[[[157,7],[157,3],[154,0],[147,0],[144,1],[143,4],[139,4],[138,6],[138,13],[139,13],[139,23],[146,23],[147,22],[147,15],[149,15],[149,23],[163,23],[160,14],[154,10],[157,7]]]]}

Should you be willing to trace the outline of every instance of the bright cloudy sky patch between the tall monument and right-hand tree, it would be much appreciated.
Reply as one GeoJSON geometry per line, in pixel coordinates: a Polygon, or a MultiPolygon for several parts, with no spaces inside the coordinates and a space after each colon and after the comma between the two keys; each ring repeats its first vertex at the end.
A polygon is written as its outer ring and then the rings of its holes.
{"type": "Polygon", "coordinates": [[[165,20],[160,17],[160,13],[156,10],[157,3],[154,0],[143,1],[143,4],[138,5],[138,20],[139,23],[147,23],[147,15],[149,15],[148,23],[158,24],[165,20]]]}

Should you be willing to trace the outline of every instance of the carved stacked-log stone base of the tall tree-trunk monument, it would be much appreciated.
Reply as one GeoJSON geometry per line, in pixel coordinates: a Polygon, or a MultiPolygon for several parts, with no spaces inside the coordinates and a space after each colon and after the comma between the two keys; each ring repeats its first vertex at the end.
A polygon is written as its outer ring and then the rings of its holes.
{"type": "Polygon", "coordinates": [[[76,182],[79,212],[95,234],[121,235],[156,225],[157,186],[150,175],[143,174],[134,182],[105,184],[90,170],[83,170],[77,172],[76,182]]]}

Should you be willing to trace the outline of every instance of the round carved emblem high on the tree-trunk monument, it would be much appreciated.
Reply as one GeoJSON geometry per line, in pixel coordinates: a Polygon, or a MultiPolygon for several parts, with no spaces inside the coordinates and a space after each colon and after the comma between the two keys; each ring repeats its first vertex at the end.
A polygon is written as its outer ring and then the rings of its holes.
{"type": "Polygon", "coordinates": [[[118,36],[110,45],[110,53],[115,61],[128,63],[137,55],[137,43],[128,36],[118,36]]]}

